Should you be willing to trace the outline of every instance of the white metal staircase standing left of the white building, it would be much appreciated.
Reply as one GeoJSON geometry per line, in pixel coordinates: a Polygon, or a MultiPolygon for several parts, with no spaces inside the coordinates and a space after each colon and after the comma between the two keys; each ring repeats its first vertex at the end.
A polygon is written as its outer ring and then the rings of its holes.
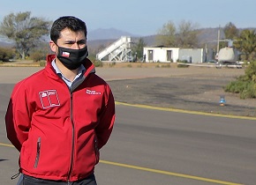
{"type": "Polygon", "coordinates": [[[122,36],[120,39],[104,48],[96,55],[99,61],[128,62],[131,49],[131,37],[122,36]]]}

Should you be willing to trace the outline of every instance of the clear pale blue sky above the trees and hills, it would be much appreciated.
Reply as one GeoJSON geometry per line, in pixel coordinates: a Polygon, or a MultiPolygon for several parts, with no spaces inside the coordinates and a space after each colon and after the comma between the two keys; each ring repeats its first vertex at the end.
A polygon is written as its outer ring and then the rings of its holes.
{"type": "Polygon", "coordinates": [[[256,27],[256,0],[4,0],[0,21],[19,11],[48,20],[72,15],[83,19],[89,31],[113,27],[141,36],[157,33],[168,21],[191,21],[200,28],[229,22],[238,28],[256,27]]]}

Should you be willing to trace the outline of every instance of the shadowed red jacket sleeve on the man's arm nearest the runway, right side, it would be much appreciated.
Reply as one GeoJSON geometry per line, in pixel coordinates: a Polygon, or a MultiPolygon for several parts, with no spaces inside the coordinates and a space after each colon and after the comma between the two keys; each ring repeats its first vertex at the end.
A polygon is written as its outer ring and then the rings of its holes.
{"type": "Polygon", "coordinates": [[[105,145],[110,137],[110,134],[113,130],[115,122],[115,100],[113,94],[109,88],[109,85],[106,86],[106,95],[105,95],[105,105],[102,108],[102,113],[100,115],[100,122],[95,128],[96,136],[98,139],[98,148],[101,149],[105,145]]]}

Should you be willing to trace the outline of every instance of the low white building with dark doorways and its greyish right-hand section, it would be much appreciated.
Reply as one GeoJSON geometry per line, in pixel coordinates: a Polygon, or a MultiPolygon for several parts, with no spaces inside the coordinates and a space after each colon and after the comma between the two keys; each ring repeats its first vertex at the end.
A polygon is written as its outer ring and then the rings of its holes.
{"type": "Polygon", "coordinates": [[[143,55],[146,63],[177,63],[178,60],[186,60],[188,63],[205,62],[203,48],[145,47],[143,55]]]}

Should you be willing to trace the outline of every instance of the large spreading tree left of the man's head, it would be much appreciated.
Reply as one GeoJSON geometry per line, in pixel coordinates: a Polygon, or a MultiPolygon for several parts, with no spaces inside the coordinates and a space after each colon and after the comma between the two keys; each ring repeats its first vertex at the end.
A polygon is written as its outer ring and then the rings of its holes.
{"type": "Polygon", "coordinates": [[[39,45],[44,35],[49,34],[51,21],[30,17],[31,12],[11,13],[4,17],[0,34],[15,42],[16,50],[25,59],[30,49],[39,45]]]}

